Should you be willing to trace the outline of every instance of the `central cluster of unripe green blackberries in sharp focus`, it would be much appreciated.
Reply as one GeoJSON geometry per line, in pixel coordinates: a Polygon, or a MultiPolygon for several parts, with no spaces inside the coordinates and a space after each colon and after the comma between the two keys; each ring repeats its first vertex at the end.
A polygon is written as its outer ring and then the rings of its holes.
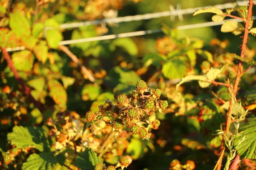
{"type": "Polygon", "coordinates": [[[158,129],[160,125],[160,121],[156,119],[156,113],[166,109],[168,102],[160,100],[160,89],[148,88],[143,80],[137,81],[136,89],[132,96],[125,94],[116,96],[115,102],[107,99],[104,104],[99,105],[97,113],[88,111],[85,118],[88,122],[92,122],[90,130],[97,133],[107,123],[111,124],[113,131],[123,139],[129,133],[149,139],[151,136],[148,132],[149,128],[158,129]],[[110,121],[103,120],[103,116],[108,116],[110,121]]]}

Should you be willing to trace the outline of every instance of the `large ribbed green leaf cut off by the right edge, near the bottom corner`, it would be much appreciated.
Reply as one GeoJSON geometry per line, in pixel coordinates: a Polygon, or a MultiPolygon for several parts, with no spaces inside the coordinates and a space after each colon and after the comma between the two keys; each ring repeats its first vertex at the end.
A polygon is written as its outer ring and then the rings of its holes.
{"type": "Polygon", "coordinates": [[[234,137],[234,146],[243,159],[256,159],[256,118],[248,118],[234,137]]]}

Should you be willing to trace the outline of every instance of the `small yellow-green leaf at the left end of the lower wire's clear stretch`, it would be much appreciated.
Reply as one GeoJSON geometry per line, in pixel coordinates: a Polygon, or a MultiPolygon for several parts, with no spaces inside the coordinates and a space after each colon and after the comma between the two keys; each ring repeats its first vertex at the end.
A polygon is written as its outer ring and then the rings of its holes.
{"type": "Polygon", "coordinates": [[[57,49],[58,44],[63,40],[62,34],[57,30],[47,30],[46,31],[46,40],[50,48],[57,49]]]}

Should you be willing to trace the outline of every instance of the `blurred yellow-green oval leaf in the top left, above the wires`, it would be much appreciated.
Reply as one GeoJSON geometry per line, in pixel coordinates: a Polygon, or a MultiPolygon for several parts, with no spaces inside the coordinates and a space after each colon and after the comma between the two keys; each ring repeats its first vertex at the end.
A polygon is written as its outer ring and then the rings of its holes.
{"type": "Polygon", "coordinates": [[[29,21],[20,12],[10,14],[10,28],[19,37],[29,37],[31,34],[29,21]]]}

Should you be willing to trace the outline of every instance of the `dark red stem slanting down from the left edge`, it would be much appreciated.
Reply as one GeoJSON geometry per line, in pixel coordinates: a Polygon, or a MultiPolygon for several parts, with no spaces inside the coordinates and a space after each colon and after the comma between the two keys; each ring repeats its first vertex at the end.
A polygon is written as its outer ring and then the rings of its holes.
{"type": "Polygon", "coordinates": [[[41,113],[44,112],[44,108],[41,102],[36,101],[35,98],[31,95],[31,91],[30,88],[23,82],[23,80],[20,78],[20,75],[18,74],[12,59],[9,55],[9,53],[6,51],[6,48],[1,48],[2,52],[3,52],[3,58],[6,60],[8,66],[11,68],[15,79],[17,80],[17,82],[20,83],[23,93],[26,94],[29,99],[31,100],[31,102],[39,109],[39,111],[41,111],[41,113]]]}

